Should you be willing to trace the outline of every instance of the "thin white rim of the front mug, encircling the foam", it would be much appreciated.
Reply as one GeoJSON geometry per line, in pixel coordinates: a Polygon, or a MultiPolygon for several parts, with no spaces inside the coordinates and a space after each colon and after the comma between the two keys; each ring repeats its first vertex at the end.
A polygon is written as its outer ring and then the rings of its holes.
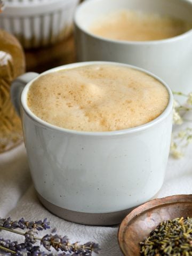
{"type": "Polygon", "coordinates": [[[111,61],[84,61],[84,62],[76,62],[76,63],[70,63],[67,65],[62,65],[59,67],[55,67],[49,70],[44,71],[43,73],[39,74],[37,77],[35,77],[34,79],[32,79],[29,83],[26,84],[26,86],[24,87],[21,96],[20,96],[20,102],[21,102],[21,107],[22,109],[25,111],[25,113],[27,114],[28,117],[30,117],[31,119],[33,119],[34,122],[46,127],[47,129],[52,129],[52,130],[56,130],[56,131],[60,131],[60,132],[66,132],[66,133],[70,133],[70,134],[79,134],[79,135],[95,135],[95,136],[111,136],[111,135],[118,135],[118,134],[128,134],[128,133],[135,133],[135,132],[141,132],[143,130],[149,129],[151,126],[158,124],[159,122],[162,122],[172,111],[172,107],[173,107],[173,94],[172,91],[170,89],[170,87],[158,76],[154,75],[153,73],[133,66],[133,65],[129,65],[129,64],[125,64],[125,63],[119,63],[119,62],[111,62],[111,61]],[[123,130],[115,130],[115,131],[96,131],[96,132],[92,132],[92,131],[78,131],[78,130],[70,130],[70,129],[66,129],[63,127],[59,127],[53,124],[50,124],[46,121],[43,121],[43,119],[39,118],[38,116],[36,116],[33,111],[30,110],[30,108],[27,106],[27,93],[29,90],[29,87],[31,84],[33,84],[34,81],[36,81],[36,79],[38,79],[39,77],[55,72],[55,71],[59,71],[62,69],[70,69],[70,68],[77,68],[77,67],[85,67],[85,66],[90,66],[90,65],[113,65],[113,66],[121,66],[121,67],[128,67],[128,68],[132,68],[138,71],[141,71],[155,79],[157,79],[157,81],[159,81],[160,83],[163,84],[163,86],[166,88],[168,94],[169,94],[169,101],[167,103],[167,106],[165,107],[165,109],[163,110],[163,112],[157,116],[155,119],[153,119],[152,121],[142,124],[142,125],[138,125],[135,127],[131,127],[131,128],[127,128],[127,129],[123,129],[123,130]]]}

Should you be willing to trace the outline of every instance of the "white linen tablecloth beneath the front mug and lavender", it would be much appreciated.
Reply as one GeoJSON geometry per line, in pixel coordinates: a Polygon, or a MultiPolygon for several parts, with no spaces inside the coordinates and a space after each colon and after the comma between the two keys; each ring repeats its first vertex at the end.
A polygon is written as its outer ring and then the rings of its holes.
{"type": "MultiPolygon", "coordinates": [[[[189,126],[190,123],[182,126],[189,126]]],[[[181,127],[182,127],[181,126],[181,127]]],[[[177,127],[177,129],[181,129],[177,127]]],[[[192,143],[186,149],[185,156],[181,159],[169,158],[166,175],[162,189],[157,197],[175,194],[192,194],[192,143]]],[[[0,217],[11,216],[14,220],[24,217],[26,220],[39,220],[47,217],[52,226],[57,228],[57,233],[67,235],[71,242],[88,241],[100,244],[102,256],[121,256],[117,242],[118,226],[92,227],[78,225],[63,220],[49,211],[38,201],[33,182],[31,181],[25,147],[11,150],[0,155],[0,217]]],[[[47,231],[43,231],[49,233],[47,231]]],[[[1,234],[5,234],[1,233],[1,234]]],[[[5,234],[9,239],[17,239],[18,235],[5,234]]],[[[95,254],[93,254],[95,255],[95,254]]]]}

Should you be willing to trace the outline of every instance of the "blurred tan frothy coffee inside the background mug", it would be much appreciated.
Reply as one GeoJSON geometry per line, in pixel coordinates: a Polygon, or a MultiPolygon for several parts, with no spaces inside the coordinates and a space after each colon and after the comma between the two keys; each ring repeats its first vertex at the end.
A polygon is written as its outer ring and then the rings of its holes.
{"type": "Polygon", "coordinates": [[[153,13],[119,10],[100,17],[90,31],[98,36],[122,41],[150,41],[178,36],[192,28],[180,19],[153,13]]]}

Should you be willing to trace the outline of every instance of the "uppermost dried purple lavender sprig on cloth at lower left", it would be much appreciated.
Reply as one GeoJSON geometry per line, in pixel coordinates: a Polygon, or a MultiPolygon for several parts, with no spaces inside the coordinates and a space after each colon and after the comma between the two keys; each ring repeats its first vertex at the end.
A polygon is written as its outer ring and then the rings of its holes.
{"type": "Polygon", "coordinates": [[[51,223],[47,221],[47,218],[45,218],[43,221],[26,221],[24,218],[21,218],[18,221],[13,221],[12,218],[9,217],[6,219],[0,219],[0,226],[11,229],[36,229],[38,231],[41,231],[43,229],[51,228],[51,223]]]}

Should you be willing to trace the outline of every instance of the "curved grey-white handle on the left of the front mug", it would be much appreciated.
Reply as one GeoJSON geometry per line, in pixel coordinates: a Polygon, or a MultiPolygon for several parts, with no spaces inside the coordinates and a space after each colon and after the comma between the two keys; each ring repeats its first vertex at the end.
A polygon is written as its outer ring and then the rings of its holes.
{"type": "Polygon", "coordinates": [[[28,72],[21,76],[18,76],[11,83],[11,101],[17,114],[20,116],[20,96],[23,88],[29,83],[32,79],[37,77],[39,74],[35,72],[28,72]]]}

